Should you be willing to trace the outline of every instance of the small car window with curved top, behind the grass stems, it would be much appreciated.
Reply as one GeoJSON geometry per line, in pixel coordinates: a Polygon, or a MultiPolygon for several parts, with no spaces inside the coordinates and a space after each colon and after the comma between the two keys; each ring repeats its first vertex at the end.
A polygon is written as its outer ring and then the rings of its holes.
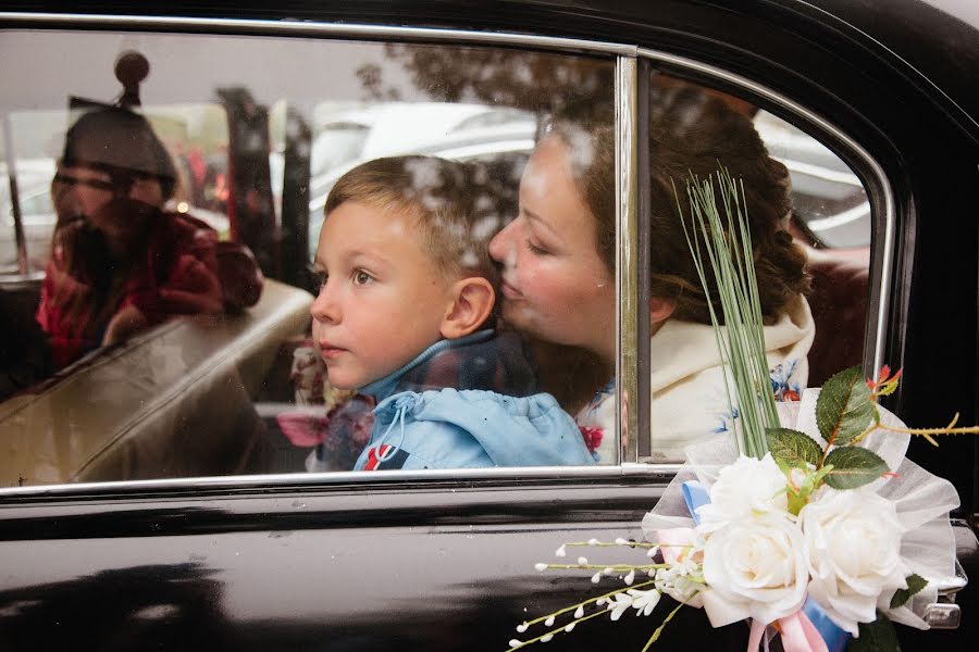
{"type": "MultiPolygon", "coordinates": [[[[672,462],[683,460],[692,439],[730,431],[736,416],[674,185],[689,221],[691,175],[703,180],[723,166],[744,184],[771,390],[780,401],[798,400],[807,386],[819,387],[863,361],[871,206],[857,175],[804,128],[715,89],[654,74],[650,140],[653,400],[646,459],[672,462]]],[[[715,310],[720,312],[719,303],[715,310]]]]}

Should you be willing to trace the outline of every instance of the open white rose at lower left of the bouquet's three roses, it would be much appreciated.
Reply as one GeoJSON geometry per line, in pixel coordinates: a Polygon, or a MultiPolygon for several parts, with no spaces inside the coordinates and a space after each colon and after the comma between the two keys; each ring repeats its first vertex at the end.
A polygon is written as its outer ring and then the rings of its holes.
{"type": "Polygon", "coordinates": [[[714,531],[704,547],[704,579],[715,593],[708,601],[719,599],[727,613],[765,624],[795,613],[808,580],[798,526],[786,514],[770,513],[714,531]]]}

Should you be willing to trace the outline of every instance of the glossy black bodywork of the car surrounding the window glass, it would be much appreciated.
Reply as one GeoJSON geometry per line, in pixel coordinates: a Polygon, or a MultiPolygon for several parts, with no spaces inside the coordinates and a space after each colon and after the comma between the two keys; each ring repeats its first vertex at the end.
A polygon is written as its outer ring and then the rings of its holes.
{"type": "MultiPolygon", "coordinates": [[[[191,39],[231,35],[243,43],[269,38],[376,39],[567,51],[615,66],[619,103],[625,97],[623,89],[643,97],[643,84],[631,86],[629,75],[641,80],[652,67],[745,99],[786,120],[791,116],[859,177],[873,209],[872,240],[865,254],[866,297],[857,297],[864,310],[857,360],[868,373],[882,362],[903,367],[901,390],[887,405],[908,424],[944,424],[956,412],[961,423],[976,423],[979,16],[975,10],[966,2],[943,10],[950,3],[917,0],[887,7],[816,0],[615,4],[284,1],[273,8],[99,2],[77,14],[71,13],[77,8],[60,3],[14,2],[0,13],[4,29],[0,39],[8,38],[8,30],[28,37],[48,30],[109,30],[137,43],[141,34],[191,39]]],[[[201,66],[206,64],[202,60],[201,66]]],[[[30,77],[32,52],[2,65],[27,71],[30,77]]],[[[303,74],[313,78],[312,71],[303,74]]],[[[17,109],[18,90],[2,92],[14,98],[5,103],[7,110],[17,109]]],[[[234,117],[232,106],[240,104],[225,105],[230,127],[247,122],[247,115],[234,117]]],[[[622,128],[623,110],[619,111],[622,128]]],[[[637,111],[641,124],[642,108],[632,111],[637,111]]],[[[642,137],[642,129],[635,137],[642,137]]],[[[301,287],[305,265],[297,261],[305,261],[308,250],[305,221],[310,198],[301,175],[290,180],[289,161],[295,155],[286,160],[283,181],[281,227],[286,235],[274,262],[278,266],[267,268],[267,274],[301,287]]],[[[641,156],[636,164],[644,164],[641,156]]],[[[238,187],[247,183],[239,181],[238,187]]],[[[246,213],[247,206],[239,209],[238,218],[246,213]]],[[[636,233],[622,235],[621,247],[630,247],[631,239],[634,246],[642,227],[635,228],[636,233]]],[[[262,238],[271,236],[252,237],[249,244],[261,251],[267,247],[262,238]]],[[[27,276],[16,279],[21,291],[36,289],[27,276]]],[[[630,284],[624,287],[623,291],[634,289],[630,284]]],[[[282,339],[301,330],[302,299],[292,288],[278,289],[283,304],[292,302],[293,321],[283,325],[272,316],[262,322],[252,315],[256,322],[243,325],[241,333],[280,328],[282,339]]],[[[193,324],[170,327],[175,338],[194,329],[193,324]]],[[[632,396],[642,396],[641,378],[648,375],[648,361],[636,344],[643,328],[637,317],[620,325],[625,351],[620,381],[635,384],[632,396]]],[[[255,358],[270,355],[259,346],[255,351],[255,358]]],[[[237,365],[235,373],[245,378],[249,391],[267,383],[261,377],[249,380],[241,372],[247,361],[239,358],[194,364],[198,365],[194,369],[237,365]]],[[[648,405],[642,401],[635,405],[630,418],[637,419],[632,425],[642,434],[636,424],[643,423],[648,405]]],[[[208,432],[208,415],[200,418],[186,428],[208,432]]],[[[22,437],[30,435],[29,424],[25,427],[22,437]]],[[[239,424],[230,431],[248,427],[239,424]]],[[[14,449],[11,443],[9,452],[0,454],[13,459],[14,449]]],[[[23,487],[16,486],[16,478],[4,478],[0,649],[505,650],[513,626],[529,614],[570,603],[586,590],[586,577],[540,575],[535,562],[546,561],[565,541],[641,536],[643,514],[661,496],[677,466],[648,464],[641,450],[630,451],[633,457],[623,464],[596,468],[398,472],[369,477],[260,468],[263,475],[238,475],[255,469],[247,462],[226,460],[214,473],[171,461],[173,471],[156,475],[163,479],[140,479],[149,476],[126,476],[121,471],[126,465],[119,460],[126,455],[165,460],[164,450],[156,457],[125,453],[102,466],[89,460],[74,475],[27,480],[23,487]],[[211,477],[195,477],[200,475],[211,477]]],[[[950,478],[959,491],[962,506],[953,514],[959,560],[974,581],[956,597],[963,616],[958,629],[901,629],[905,649],[970,650],[975,644],[977,455],[976,440],[968,437],[945,439],[939,449],[920,441],[912,444],[912,459],[950,478]]],[[[615,642],[637,650],[655,625],[646,618],[619,624],[602,619],[550,644],[606,649],[615,642]]],[[[742,625],[710,630],[703,614],[683,610],[658,644],[733,649],[743,647],[746,637],[742,625]]]]}

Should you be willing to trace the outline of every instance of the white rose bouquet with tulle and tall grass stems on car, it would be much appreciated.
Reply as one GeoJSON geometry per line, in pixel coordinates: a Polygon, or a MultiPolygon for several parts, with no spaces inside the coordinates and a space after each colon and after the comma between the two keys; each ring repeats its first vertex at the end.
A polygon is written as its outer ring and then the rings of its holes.
{"type": "Polygon", "coordinates": [[[905,459],[912,435],[932,443],[956,428],[907,428],[878,405],[901,372],[865,379],[859,368],[833,376],[801,401],[774,403],[761,339],[743,189],[718,175],[728,213],[717,214],[712,183],[692,179],[689,234],[705,291],[714,268],[724,327],[714,314],[718,348],[738,410],[735,436],[686,448],[686,463],[642,523],[645,541],[566,543],[644,552],[640,563],[538,563],[538,570],[581,569],[616,588],[520,624],[510,650],[573,631],[585,620],[627,611],[648,616],[662,594],[679,604],[656,627],[645,652],[683,606],[701,607],[712,627],[751,622],[748,650],[781,636],[789,652],[897,649],[892,622],[926,629],[938,588],[964,586],[956,574],[949,512],[955,488],[905,459]],[[747,262],[746,262],[747,261],[747,262]],[[619,582],[622,584],[619,584],[619,582]],[[543,634],[536,631],[544,628],[543,634]],[[531,627],[535,629],[531,631],[531,627]]]}

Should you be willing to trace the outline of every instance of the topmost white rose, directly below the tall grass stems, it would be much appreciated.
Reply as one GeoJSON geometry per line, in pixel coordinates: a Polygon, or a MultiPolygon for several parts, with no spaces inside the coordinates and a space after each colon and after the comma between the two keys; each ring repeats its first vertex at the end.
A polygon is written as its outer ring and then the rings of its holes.
{"type": "Polygon", "coordinates": [[[710,531],[763,514],[785,514],[789,509],[785,486],[785,474],[771,453],[760,460],[739,457],[720,469],[710,487],[710,504],[697,510],[704,526],[699,529],[710,531]]]}

